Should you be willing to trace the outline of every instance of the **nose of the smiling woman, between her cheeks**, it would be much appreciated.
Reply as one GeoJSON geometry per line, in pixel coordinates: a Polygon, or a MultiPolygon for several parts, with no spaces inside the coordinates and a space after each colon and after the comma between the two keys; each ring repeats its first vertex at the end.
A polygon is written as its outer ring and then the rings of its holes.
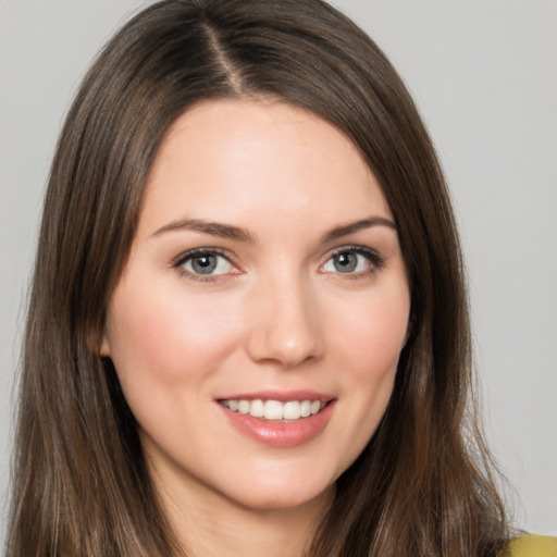
{"type": "Polygon", "coordinates": [[[299,277],[259,285],[249,306],[247,350],[252,360],[295,368],[323,355],[315,296],[299,277]]]}

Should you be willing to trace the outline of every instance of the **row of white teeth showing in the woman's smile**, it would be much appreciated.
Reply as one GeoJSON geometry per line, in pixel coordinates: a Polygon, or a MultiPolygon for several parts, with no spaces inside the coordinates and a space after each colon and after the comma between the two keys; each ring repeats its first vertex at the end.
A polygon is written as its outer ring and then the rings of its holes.
{"type": "Polygon", "coordinates": [[[233,412],[252,416],[253,418],[264,418],[265,420],[299,420],[320,412],[325,404],[320,400],[246,400],[227,399],[220,400],[221,405],[233,412]]]}

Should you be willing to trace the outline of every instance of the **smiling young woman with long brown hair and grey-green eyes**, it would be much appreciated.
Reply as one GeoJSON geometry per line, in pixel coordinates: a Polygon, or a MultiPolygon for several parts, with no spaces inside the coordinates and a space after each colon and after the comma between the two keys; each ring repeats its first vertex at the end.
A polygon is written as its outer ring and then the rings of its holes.
{"type": "Polygon", "coordinates": [[[450,205],[319,1],[166,1],[47,194],[8,554],[503,555],[450,205]]]}

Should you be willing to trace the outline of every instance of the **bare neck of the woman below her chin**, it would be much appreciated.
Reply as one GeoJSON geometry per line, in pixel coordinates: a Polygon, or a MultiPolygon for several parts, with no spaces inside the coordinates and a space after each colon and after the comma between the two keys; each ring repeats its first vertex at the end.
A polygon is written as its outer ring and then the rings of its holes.
{"type": "Polygon", "coordinates": [[[202,491],[160,490],[170,525],[187,557],[302,557],[334,497],[331,486],[296,507],[252,509],[202,491]]]}

